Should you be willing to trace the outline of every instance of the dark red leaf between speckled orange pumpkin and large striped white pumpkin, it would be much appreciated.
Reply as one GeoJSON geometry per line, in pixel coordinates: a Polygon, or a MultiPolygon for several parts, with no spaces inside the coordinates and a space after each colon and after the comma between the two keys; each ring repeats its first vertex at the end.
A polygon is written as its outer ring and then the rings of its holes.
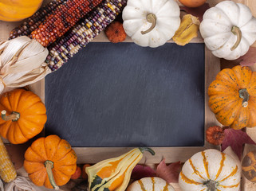
{"type": "Polygon", "coordinates": [[[247,143],[256,145],[256,143],[249,137],[248,134],[246,134],[246,132],[231,128],[225,129],[224,132],[225,138],[223,140],[222,150],[225,150],[226,147],[230,146],[232,150],[234,150],[234,153],[238,155],[239,159],[242,157],[243,144],[247,143]]]}

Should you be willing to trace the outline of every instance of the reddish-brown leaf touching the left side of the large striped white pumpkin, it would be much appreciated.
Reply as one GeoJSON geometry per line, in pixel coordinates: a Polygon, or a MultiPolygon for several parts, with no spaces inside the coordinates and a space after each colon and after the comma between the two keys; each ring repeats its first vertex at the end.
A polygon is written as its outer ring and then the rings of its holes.
{"type": "Polygon", "coordinates": [[[165,164],[165,159],[157,166],[156,176],[163,178],[168,183],[178,183],[179,173],[181,171],[180,162],[171,163],[170,165],[165,164]]]}

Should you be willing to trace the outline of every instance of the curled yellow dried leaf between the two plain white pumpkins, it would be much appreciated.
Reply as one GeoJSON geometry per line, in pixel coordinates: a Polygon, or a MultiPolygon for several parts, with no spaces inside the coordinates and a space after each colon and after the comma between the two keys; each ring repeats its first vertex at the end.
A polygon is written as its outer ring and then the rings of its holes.
{"type": "Polygon", "coordinates": [[[186,14],[181,20],[179,29],[175,32],[173,41],[177,45],[187,45],[194,37],[197,37],[200,21],[191,14],[186,14]]]}

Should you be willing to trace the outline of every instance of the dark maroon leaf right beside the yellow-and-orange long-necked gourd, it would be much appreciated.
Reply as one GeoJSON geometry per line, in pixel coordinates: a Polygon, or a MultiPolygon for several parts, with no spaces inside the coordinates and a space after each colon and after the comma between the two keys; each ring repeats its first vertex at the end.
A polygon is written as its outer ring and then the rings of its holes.
{"type": "Polygon", "coordinates": [[[156,177],[155,170],[152,170],[149,166],[136,165],[132,170],[132,180],[140,180],[143,177],[156,177]]]}

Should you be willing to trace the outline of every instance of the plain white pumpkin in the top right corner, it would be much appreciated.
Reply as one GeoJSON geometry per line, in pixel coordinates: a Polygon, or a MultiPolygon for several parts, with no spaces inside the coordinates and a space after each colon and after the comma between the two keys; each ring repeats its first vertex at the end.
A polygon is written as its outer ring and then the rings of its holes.
{"type": "Polygon", "coordinates": [[[216,57],[235,60],[256,41],[256,18],[247,6],[223,1],[205,12],[200,32],[216,57]]]}

